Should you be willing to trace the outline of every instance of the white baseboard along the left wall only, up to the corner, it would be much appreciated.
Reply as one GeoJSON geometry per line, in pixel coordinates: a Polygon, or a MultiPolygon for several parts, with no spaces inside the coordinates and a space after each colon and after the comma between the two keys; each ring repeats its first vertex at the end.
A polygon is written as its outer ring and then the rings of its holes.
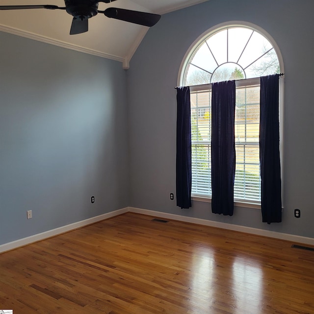
{"type": "Polygon", "coordinates": [[[22,239],[19,239],[19,240],[16,240],[16,241],[12,241],[12,242],[9,242],[9,243],[4,243],[4,244],[0,245],[0,253],[5,252],[5,251],[10,251],[10,250],[16,249],[18,247],[21,247],[21,246],[33,243],[33,242],[40,241],[40,240],[52,237],[54,235],[60,235],[60,234],[63,234],[65,232],[68,232],[68,231],[71,231],[71,230],[74,230],[74,229],[78,229],[78,228],[81,228],[81,227],[93,224],[95,222],[98,222],[98,221],[101,221],[101,220],[104,220],[104,219],[108,219],[108,218],[111,218],[111,217],[114,217],[114,216],[118,216],[118,215],[121,215],[121,214],[123,214],[125,212],[128,212],[128,211],[129,211],[128,208],[123,208],[123,209],[110,211],[110,212],[107,212],[107,213],[99,215],[99,216],[95,216],[95,217],[92,217],[92,218],[88,218],[88,219],[85,219],[85,220],[74,222],[72,224],[69,224],[69,225],[66,225],[66,226],[62,226],[62,227],[59,227],[59,228],[55,228],[55,229],[52,229],[52,230],[49,230],[49,231],[46,231],[46,232],[42,232],[42,233],[37,234],[37,235],[30,235],[30,236],[27,236],[25,238],[22,238],[22,239]]]}

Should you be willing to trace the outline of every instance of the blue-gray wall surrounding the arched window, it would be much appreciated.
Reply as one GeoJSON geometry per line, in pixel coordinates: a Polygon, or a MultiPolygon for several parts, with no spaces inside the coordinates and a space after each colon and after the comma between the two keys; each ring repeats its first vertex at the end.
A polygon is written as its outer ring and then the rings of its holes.
{"type": "Polygon", "coordinates": [[[313,0],[209,0],[162,16],[134,54],[128,71],[130,206],[314,237],[313,0]],[[276,41],[285,66],[283,222],[262,223],[258,209],[232,217],[210,204],[179,209],[175,192],[176,91],[185,52],[203,32],[228,21],[262,27],[276,41]],[[293,210],[301,209],[301,218],[293,210]]]}

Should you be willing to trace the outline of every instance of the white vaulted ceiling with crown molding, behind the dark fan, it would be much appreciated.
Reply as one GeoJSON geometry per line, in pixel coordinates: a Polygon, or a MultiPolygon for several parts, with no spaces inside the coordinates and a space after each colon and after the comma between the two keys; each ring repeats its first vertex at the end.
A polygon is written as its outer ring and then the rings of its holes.
{"type": "MultiPolygon", "coordinates": [[[[99,3],[99,9],[124,9],[165,14],[207,0],[117,0],[99,3]]],[[[1,0],[0,5],[53,4],[64,0],[1,0]]],[[[162,19],[162,17],[161,17],[162,19]]],[[[72,16],[65,10],[27,9],[0,11],[0,30],[123,62],[125,69],[149,27],[109,19],[104,14],[89,19],[86,33],[70,35],[72,16]]],[[[153,26],[154,27],[154,26],[153,26]]]]}

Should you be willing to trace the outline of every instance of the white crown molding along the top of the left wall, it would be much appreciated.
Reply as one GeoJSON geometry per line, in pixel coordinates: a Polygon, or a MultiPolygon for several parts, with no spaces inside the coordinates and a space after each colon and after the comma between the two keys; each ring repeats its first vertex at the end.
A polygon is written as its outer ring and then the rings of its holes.
{"type": "Polygon", "coordinates": [[[126,60],[124,57],[120,57],[117,55],[113,55],[113,54],[109,54],[109,53],[105,53],[105,52],[100,52],[97,50],[92,50],[92,49],[80,47],[77,45],[73,45],[70,43],[63,42],[63,41],[55,40],[55,39],[52,39],[49,37],[41,36],[41,35],[27,32],[27,31],[24,31],[24,30],[21,30],[18,28],[14,28],[14,27],[8,27],[8,26],[0,25],[0,31],[10,33],[13,35],[17,35],[17,36],[21,36],[21,37],[25,37],[25,38],[29,38],[29,39],[33,39],[33,40],[37,40],[37,41],[40,41],[40,42],[43,42],[46,44],[51,44],[54,46],[58,46],[58,47],[62,47],[62,48],[66,48],[66,49],[70,49],[70,50],[74,50],[74,51],[78,51],[78,52],[88,53],[88,54],[96,55],[96,56],[106,58],[106,59],[119,61],[119,62],[122,62],[123,64],[125,63],[125,60],[126,60]]]}

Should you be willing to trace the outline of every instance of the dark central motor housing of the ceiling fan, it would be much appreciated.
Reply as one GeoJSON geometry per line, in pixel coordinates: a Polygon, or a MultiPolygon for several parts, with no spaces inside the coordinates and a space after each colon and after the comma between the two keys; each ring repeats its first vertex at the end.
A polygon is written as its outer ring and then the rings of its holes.
{"type": "Polygon", "coordinates": [[[64,0],[66,11],[80,20],[90,19],[98,13],[95,0],[64,0]]]}

